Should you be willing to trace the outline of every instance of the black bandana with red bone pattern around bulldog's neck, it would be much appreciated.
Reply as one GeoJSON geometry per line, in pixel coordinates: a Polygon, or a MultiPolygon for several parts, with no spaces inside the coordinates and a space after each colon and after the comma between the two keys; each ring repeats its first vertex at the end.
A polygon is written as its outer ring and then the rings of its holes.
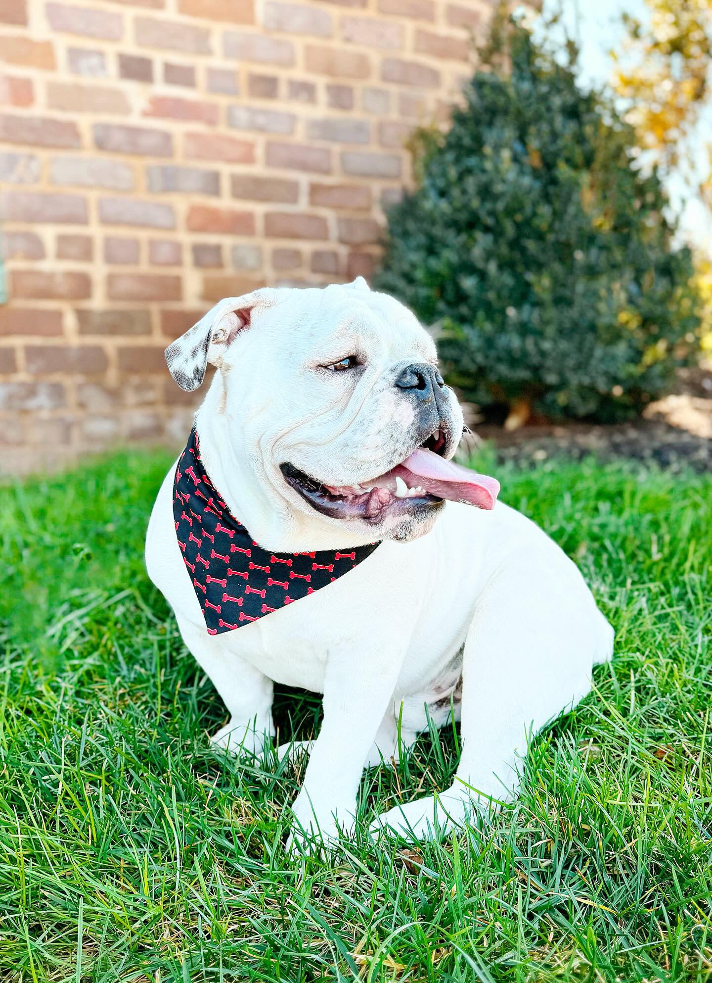
{"type": "Polygon", "coordinates": [[[191,432],[176,468],[178,545],[211,635],[299,601],[353,570],[378,546],[273,553],[258,547],[207,476],[191,432]]]}

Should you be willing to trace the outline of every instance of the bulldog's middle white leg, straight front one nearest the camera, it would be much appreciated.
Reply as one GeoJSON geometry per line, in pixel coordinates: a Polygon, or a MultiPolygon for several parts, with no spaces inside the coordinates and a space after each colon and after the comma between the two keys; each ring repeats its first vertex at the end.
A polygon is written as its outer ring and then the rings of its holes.
{"type": "Polygon", "coordinates": [[[290,846],[314,837],[328,842],[350,832],[356,793],[368,752],[383,720],[405,658],[358,646],[329,654],[324,679],[324,720],[309,757],[301,791],[292,806],[290,846]]]}

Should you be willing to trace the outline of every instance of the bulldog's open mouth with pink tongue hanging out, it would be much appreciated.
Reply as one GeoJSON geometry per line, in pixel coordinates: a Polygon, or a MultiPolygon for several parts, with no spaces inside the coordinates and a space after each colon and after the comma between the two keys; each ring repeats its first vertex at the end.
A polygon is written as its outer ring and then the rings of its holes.
{"type": "Polygon", "coordinates": [[[494,508],[499,482],[446,461],[438,453],[443,444],[436,434],[402,464],[357,485],[324,485],[289,463],[281,465],[281,470],[287,483],[313,508],[337,519],[357,518],[376,524],[386,514],[412,514],[438,506],[443,499],[494,508]]]}

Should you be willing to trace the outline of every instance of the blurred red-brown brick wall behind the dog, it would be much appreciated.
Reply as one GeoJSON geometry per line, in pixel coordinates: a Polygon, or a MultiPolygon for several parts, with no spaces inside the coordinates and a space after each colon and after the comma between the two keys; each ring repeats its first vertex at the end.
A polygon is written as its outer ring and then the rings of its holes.
{"type": "Polygon", "coordinates": [[[368,275],[487,0],[0,0],[4,470],[175,441],[212,302],[368,275]]]}

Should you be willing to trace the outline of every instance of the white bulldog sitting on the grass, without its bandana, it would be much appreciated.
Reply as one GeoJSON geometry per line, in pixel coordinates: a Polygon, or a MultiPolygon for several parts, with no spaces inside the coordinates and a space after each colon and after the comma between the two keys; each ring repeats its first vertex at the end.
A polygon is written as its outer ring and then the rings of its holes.
{"type": "Polygon", "coordinates": [[[589,691],[613,631],[564,552],[495,505],[498,483],[450,462],[463,417],[429,334],[359,277],[228,298],[166,357],[187,390],[208,362],[217,368],[195,415],[200,459],[255,543],[297,553],[380,542],[297,603],[209,634],[177,540],[171,468],[146,566],[230,714],[212,740],[259,753],[275,733],[275,681],[323,693],[293,805],[300,841],[348,831],[363,769],[452,713],[453,784],[373,829],[426,838],[510,800],[527,739],[589,691]]]}

